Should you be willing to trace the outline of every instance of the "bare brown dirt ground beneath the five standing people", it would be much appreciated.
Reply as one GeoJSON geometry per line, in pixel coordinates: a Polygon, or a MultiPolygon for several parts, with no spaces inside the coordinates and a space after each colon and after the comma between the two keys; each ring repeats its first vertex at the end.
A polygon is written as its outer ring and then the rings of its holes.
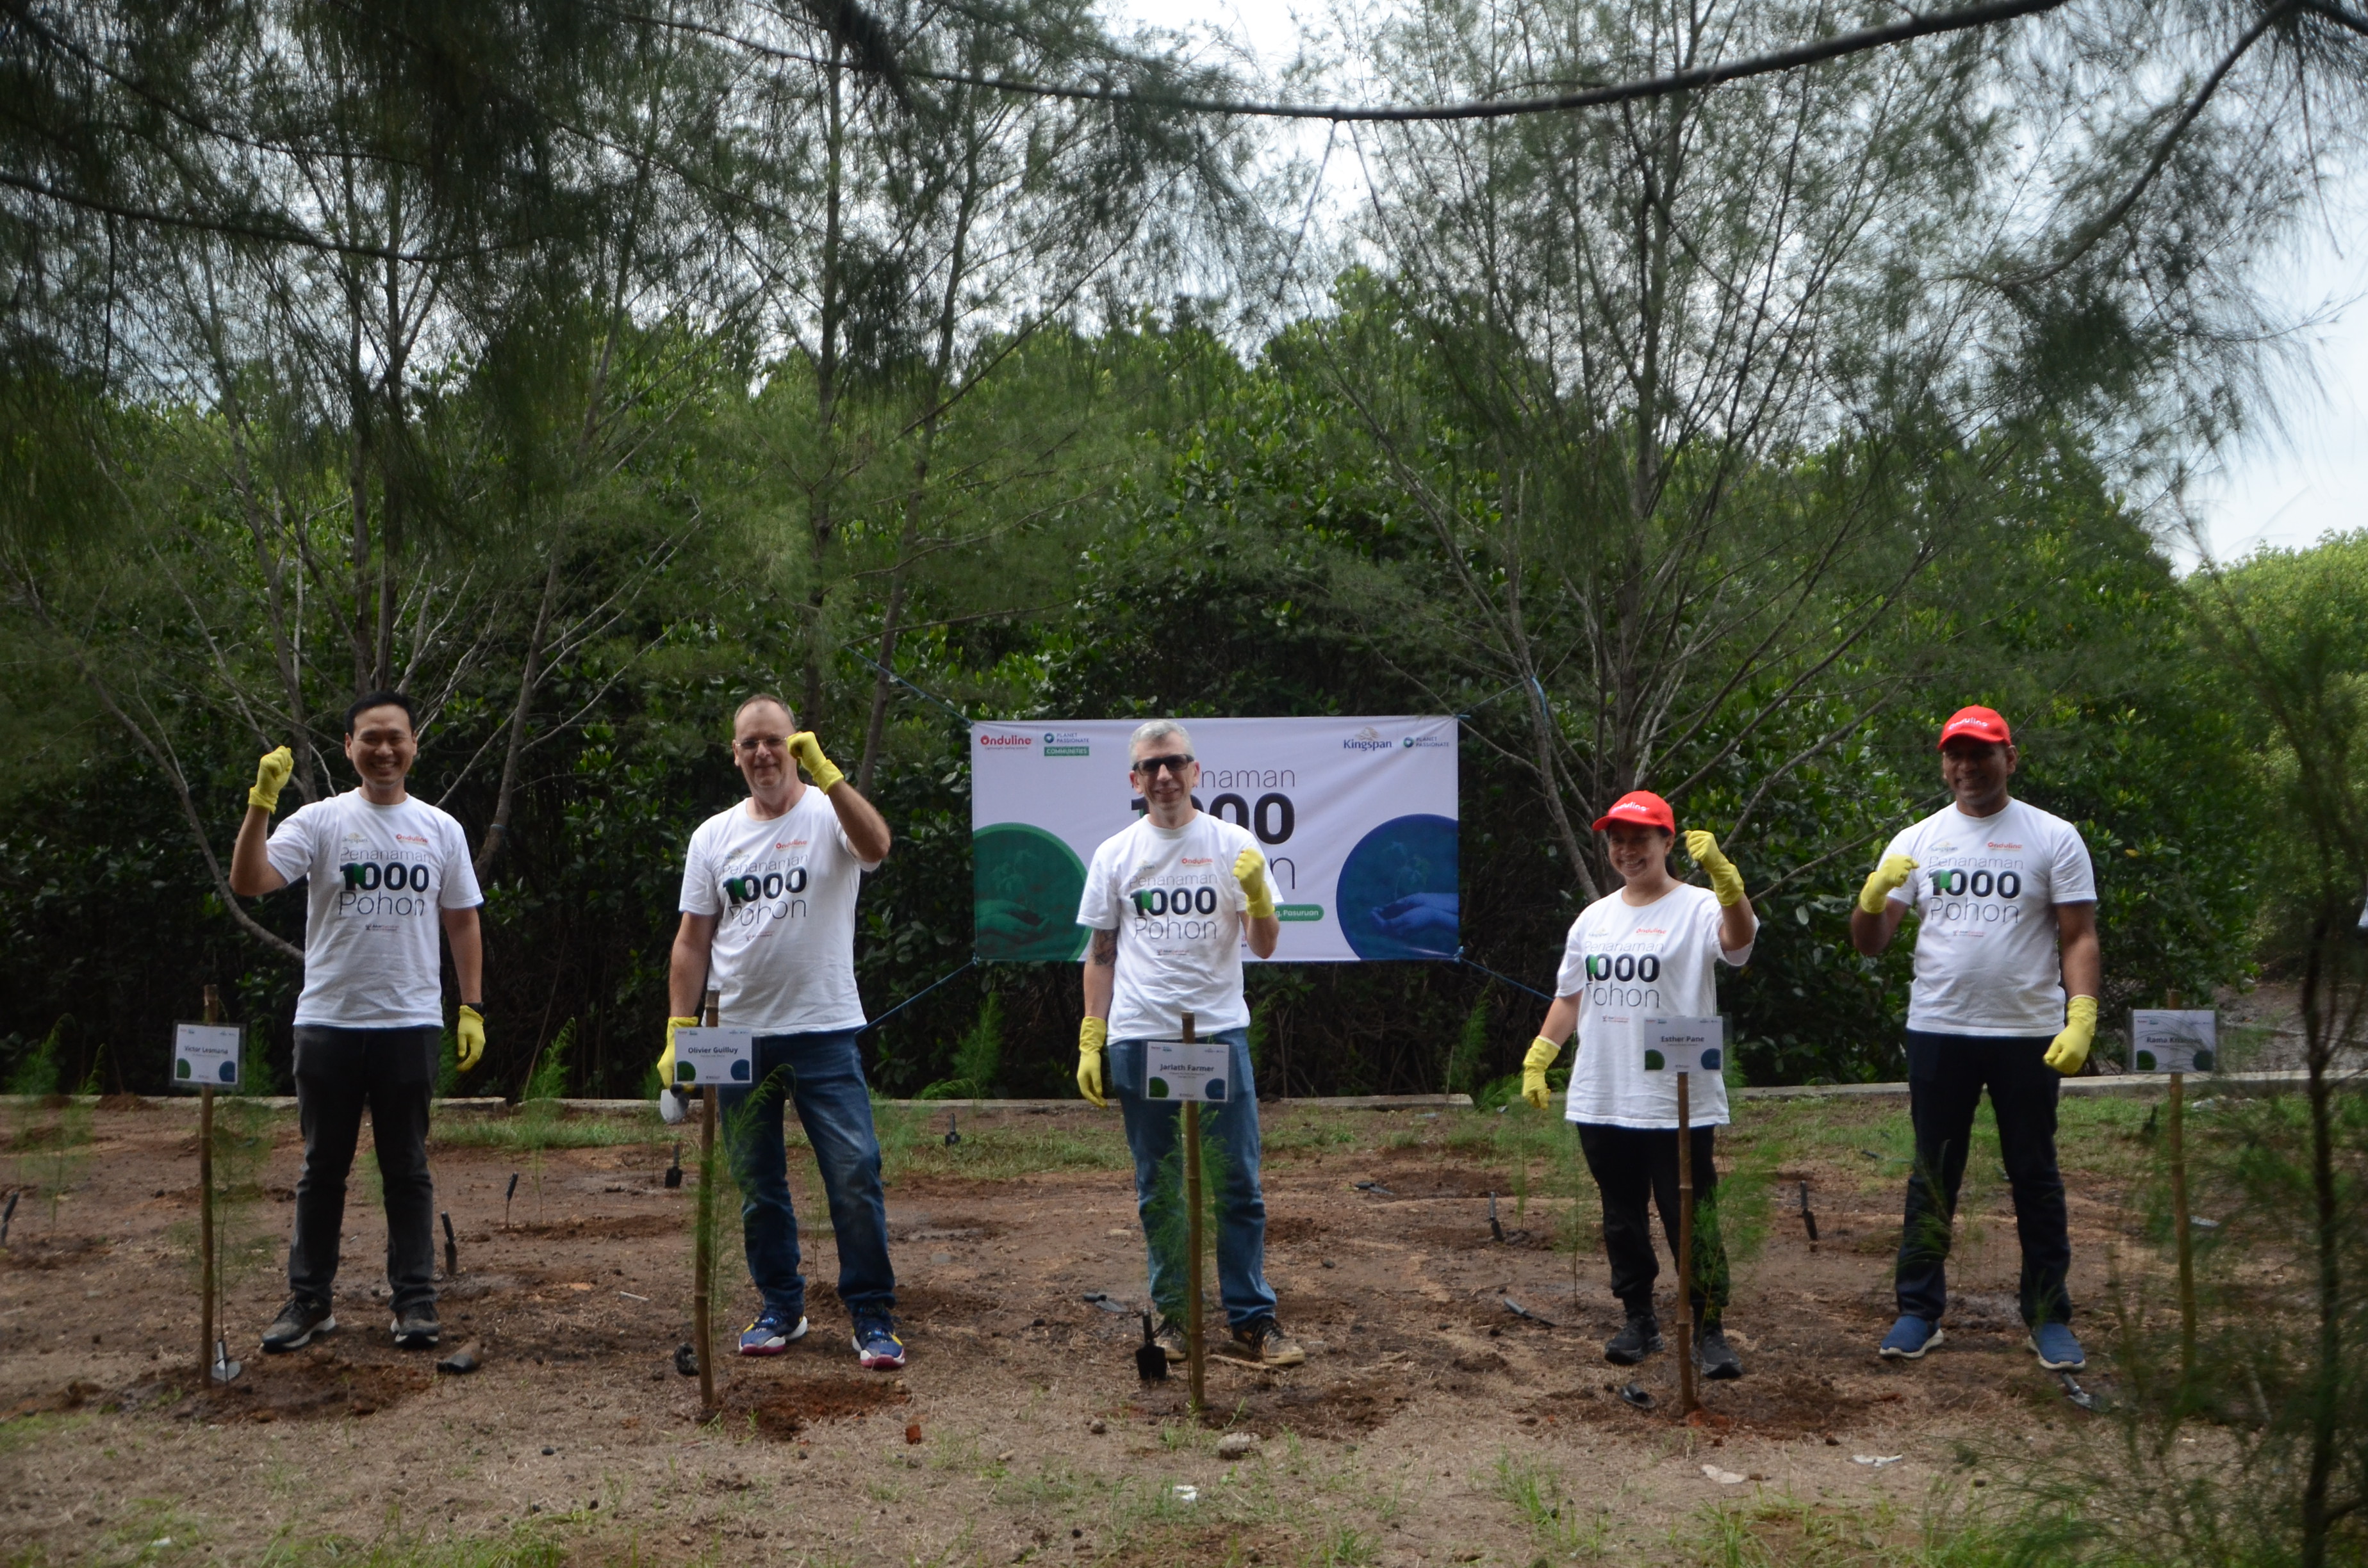
{"type": "MultiPolygon", "coordinates": [[[[2143,1113],[2067,1104],[2077,1300],[2103,1296],[2108,1244],[2131,1234],[2122,1123],[2143,1113]]],[[[725,1414],[701,1424],[699,1386],[673,1367],[694,1180],[663,1187],[670,1144],[545,1153],[507,1227],[504,1187],[528,1158],[438,1144],[459,1232],[443,1350],[478,1341],[474,1376],[391,1345],[365,1163],[343,1329],[258,1352],[275,1258],[230,1291],[246,1374],[206,1393],[194,1116],[99,1111],[54,1225],[28,1201],[0,1253],[0,1561],[353,1561],[355,1544],[388,1563],[1698,1561],[1705,1509],[1781,1499],[1752,1518],[1913,1530],[1935,1483],[1970,1485],[1989,1464],[1963,1442],[2013,1454],[2084,1419],[2022,1348],[1994,1151],[1968,1182],[1949,1345],[1892,1367],[1873,1348],[1892,1315],[1904,1104],[1745,1116],[1722,1168],[1759,1189],[1757,1222],[1750,1203],[1731,1220],[1759,1236],[1729,1312],[1748,1376],[1707,1390],[1710,1426],[1677,1419],[1672,1357],[1601,1360],[1617,1307],[1558,1125],[1269,1108],[1267,1270],[1310,1362],[1212,1362],[1212,1416],[1193,1428],[1182,1379],[1137,1381],[1137,1322],[1082,1300],[1144,1296],[1115,1113],[966,1113],[959,1149],[940,1144],[942,1113],[900,1118],[888,1208],[909,1369],[855,1364],[831,1239],[810,1229],[812,1336],[779,1360],[725,1357],[725,1414]],[[1511,1244],[1489,1234],[1487,1191],[1511,1244]],[[1653,1409],[1617,1397],[1629,1381],[1653,1409]],[[1262,1442],[1222,1459],[1224,1431],[1262,1442]]],[[[819,1220],[798,1158],[800,1215],[819,1220]]],[[[287,1116],[244,1220],[282,1251],[296,1168],[287,1116]]],[[[727,1279],[720,1329],[736,1331],[753,1296],[744,1270],[727,1279]]],[[[1662,1298],[1667,1317],[1672,1274],[1662,1298]]],[[[2091,1386],[2112,1381],[2100,1338],[2091,1386]]]]}

